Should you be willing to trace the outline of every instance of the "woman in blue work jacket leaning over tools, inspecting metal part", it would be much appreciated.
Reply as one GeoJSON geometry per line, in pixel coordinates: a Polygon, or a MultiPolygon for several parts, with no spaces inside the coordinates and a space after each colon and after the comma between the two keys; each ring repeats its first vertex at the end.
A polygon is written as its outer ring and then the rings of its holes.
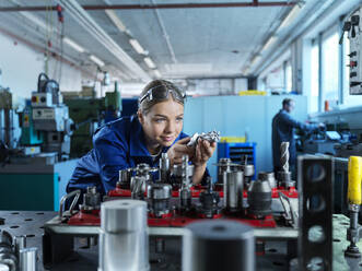
{"type": "Polygon", "coordinates": [[[67,192],[96,186],[102,195],[107,193],[115,188],[120,169],[140,163],[156,167],[163,152],[171,164],[179,164],[183,155],[189,155],[195,166],[192,181],[201,182],[215,143],[200,140],[196,149],[187,146],[190,138],[182,132],[184,99],[185,95],[171,82],[150,82],[140,95],[137,116],[106,123],[94,133],[94,149],[78,162],[67,192]]]}

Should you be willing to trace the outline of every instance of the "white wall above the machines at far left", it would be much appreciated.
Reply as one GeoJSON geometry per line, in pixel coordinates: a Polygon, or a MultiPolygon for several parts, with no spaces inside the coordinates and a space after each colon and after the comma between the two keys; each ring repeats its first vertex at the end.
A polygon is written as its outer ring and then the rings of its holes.
{"type": "MultiPolygon", "coordinates": [[[[0,85],[10,87],[15,104],[36,91],[37,78],[45,70],[45,56],[13,38],[0,34],[0,85]],[[5,54],[4,54],[5,52],[5,54]]],[[[60,82],[61,91],[81,91],[81,72],[50,58],[49,76],[60,82]],[[59,80],[60,79],[60,80],[59,80]]]]}

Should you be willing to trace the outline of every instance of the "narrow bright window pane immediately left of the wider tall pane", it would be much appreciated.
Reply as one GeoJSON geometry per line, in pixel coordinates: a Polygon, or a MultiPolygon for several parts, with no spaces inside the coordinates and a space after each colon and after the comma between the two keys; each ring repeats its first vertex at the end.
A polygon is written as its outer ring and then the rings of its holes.
{"type": "Polygon", "coordinates": [[[314,43],[311,51],[311,95],[310,95],[310,111],[318,111],[319,98],[319,47],[318,43],[314,43]]]}

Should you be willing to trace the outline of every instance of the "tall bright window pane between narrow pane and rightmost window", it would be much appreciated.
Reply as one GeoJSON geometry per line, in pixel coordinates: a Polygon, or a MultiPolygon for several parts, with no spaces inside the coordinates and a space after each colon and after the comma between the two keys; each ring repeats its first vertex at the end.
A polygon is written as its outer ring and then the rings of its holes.
{"type": "Polygon", "coordinates": [[[327,36],[322,44],[322,93],[323,103],[328,101],[329,106],[338,104],[338,71],[339,71],[339,44],[338,33],[327,36]]]}

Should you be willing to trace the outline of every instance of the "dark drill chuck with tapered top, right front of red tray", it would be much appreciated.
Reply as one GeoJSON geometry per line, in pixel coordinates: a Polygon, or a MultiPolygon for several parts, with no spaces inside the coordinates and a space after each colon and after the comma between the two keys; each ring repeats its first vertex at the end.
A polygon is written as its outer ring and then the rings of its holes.
{"type": "Polygon", "coordinates": [[[265,216],[271,213],[271,187],[268,180],[255,180],[250,182],[247,191],[247,213],[256,216],[265,216]]]}

